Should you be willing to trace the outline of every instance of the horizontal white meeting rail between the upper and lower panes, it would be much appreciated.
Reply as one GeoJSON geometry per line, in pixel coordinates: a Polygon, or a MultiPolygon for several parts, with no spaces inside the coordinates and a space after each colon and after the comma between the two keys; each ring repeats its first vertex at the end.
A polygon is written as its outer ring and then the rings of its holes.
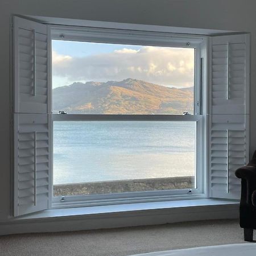
{"type": "Polygon", "coordinates": [[[52,114],[53,121],[199,121],[202,115],[52,114]]]}

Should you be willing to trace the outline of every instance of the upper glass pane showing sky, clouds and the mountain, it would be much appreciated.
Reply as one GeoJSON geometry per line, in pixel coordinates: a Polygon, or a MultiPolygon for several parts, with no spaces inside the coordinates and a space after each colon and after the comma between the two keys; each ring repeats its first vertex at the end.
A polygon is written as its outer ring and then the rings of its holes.
{"type": "Polygon", "coordinates": [[[52,41],[53,113],[194,113],[194,48],[52,41]]]}

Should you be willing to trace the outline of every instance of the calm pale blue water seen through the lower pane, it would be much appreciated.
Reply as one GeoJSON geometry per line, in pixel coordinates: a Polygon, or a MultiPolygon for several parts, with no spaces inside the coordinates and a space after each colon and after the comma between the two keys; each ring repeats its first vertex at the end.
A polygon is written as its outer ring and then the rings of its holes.
{"type": "Polygon", "coordinates": [[[53,183],[195,174],[195,122],[55,122],[53,183]]]}

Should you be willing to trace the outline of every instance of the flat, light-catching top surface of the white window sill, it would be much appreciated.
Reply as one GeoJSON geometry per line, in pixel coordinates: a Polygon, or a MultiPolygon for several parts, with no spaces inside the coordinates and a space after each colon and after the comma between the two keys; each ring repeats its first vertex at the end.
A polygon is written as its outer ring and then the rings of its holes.
{"type": "Polygon", "coordinates": [[[179,208],[198,208],[198,207],[214,207],[220,205],[237,206],[237,200],[218,200],[218,199],[191,199],[191,200],[175,200],[175,201],[158,201],[150,203],[134,203],[134,204],[117,204],[103,205],[94,207],[76,207],[63,209],[49,209],[41,212],[27,214],[26,216],[16,217],[15,220],[29,220],[39,218],[56,218],[56,217],[75,217],[75,216],[92,216],[97,214],[111,213],[135,213],[147,210],[167,210],[179,208]]]}

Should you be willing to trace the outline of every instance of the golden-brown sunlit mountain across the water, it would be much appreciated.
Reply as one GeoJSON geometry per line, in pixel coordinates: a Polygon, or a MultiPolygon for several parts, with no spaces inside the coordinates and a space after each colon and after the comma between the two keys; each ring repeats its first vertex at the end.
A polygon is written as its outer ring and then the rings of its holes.
{"type": "Polygon", "coordinates": [[[169,88],[126,79],[74,82],[53,89],[53,113],[68,114],[183,114],[193,112],[193,87],[169,88]]]}

